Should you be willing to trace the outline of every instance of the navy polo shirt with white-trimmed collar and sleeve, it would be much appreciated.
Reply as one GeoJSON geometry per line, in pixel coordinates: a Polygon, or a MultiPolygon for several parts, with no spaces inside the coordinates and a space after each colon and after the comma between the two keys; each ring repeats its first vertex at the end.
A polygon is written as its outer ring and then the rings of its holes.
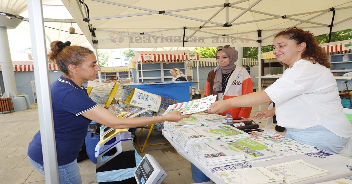
{"type": "MultiPolygon", "coordinates": [[[[89,98],[86,89],[82,89],[63,76],[52,83],[50,89],[57,163],[66,165],[77,158],[83,140],[87,136],[88,124],[91,120],[81,114],[98,104],[89,98]]],[[[43,164],[40,131],[29,143],[27,154],[33,161],[43,164]]]]}

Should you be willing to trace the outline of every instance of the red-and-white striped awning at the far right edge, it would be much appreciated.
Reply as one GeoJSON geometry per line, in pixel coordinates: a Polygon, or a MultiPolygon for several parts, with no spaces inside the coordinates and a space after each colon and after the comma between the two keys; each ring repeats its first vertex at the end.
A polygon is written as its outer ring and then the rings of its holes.
{"type": "Polygon", "coordinates": [[[352,40],[321,43],[320,46],[324,48],[327,53],[334,53],[334,54],[351,53],[352,40]]]}

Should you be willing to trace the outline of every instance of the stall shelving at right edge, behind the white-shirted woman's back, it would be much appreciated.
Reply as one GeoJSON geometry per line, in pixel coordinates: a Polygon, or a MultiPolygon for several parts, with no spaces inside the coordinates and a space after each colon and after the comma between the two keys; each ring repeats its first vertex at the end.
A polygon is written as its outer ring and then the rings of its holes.
{"type": "Polygon", "coordinates": [[[345,53],[345,54],[332,54],[330,55],[330,61],[331,61],[331,69],[330,71],[332,73],[337,74],[337,76],[335,76],[336,82],[337,82],[337,87],[339,89],[339,91],[344,90],[345,89],[345,84],[342,84],[341,80],[345,80],[350,82],[350,84],[347,86],[349,86],[348,88],[352,87],[352,75],[350,76],[343,76],[344,74],[348,73],[348,72],[352,72],[352,53],[345,53]],[[350,61],[343,61],[343,57],[347,55],[350,61]]]}

